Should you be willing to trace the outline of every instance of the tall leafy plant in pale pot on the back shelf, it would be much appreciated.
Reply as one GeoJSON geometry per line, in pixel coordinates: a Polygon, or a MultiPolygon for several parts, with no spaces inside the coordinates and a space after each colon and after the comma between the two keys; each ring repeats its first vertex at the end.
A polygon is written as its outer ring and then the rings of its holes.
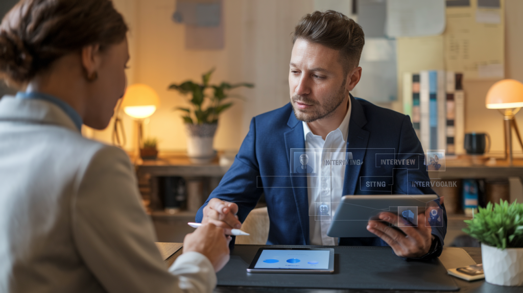
{"type": "MultiPolygon", "coordinates": [[[[214,69],[202,75],[201,84],[188,80],[181,84],[171,84],[170,90],[176,90],[183,95],[190,94],[191,108],[176,107],[183,111],[181,118],[184,119],[187,130],[187,155],[194,163],[207,163],[212,161],[215,151],[212,147],[214,134],[218,127],[219,115],[232,106],[232,102],[225,102],[231,95],[229,90],[238,87],[253,88],[248,83],[221,83],[211,85],[209,80],[214,69]]],[[[237,97],[237,96],[236,96],[237,97]]]]}

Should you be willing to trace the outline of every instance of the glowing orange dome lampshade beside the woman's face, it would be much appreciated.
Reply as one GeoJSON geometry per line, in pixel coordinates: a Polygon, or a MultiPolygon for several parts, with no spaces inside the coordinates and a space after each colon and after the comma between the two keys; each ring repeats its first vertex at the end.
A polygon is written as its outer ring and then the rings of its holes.
{"type": "Polygon", "coordinates": [[[136,119],[151,116],[160,105],[160,98],[154,89],[144,84],[134,84],[123,95],[123,112],[136,119]]]}

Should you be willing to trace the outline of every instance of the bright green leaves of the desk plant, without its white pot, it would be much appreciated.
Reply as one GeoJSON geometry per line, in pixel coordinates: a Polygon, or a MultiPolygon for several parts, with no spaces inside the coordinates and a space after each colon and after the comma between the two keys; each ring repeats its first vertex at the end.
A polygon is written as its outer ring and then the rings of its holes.
{"type": "Polygon", "coordinates": [[[463,232],[471,237],[498,249],[523,247],[523,204],[507,201],[499,204],[488,203],[479,208],[479,213],[471,220],[463,232]]]}

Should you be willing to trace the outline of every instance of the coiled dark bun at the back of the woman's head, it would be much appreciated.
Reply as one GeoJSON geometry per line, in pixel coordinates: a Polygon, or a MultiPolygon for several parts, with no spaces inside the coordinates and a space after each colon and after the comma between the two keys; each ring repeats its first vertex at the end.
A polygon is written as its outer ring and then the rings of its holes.
{"type": "Polygon", "coordinates": [[[0,31],[0,72],[15,83],[32,77],[32,56],[16,35],[0,31]]]}

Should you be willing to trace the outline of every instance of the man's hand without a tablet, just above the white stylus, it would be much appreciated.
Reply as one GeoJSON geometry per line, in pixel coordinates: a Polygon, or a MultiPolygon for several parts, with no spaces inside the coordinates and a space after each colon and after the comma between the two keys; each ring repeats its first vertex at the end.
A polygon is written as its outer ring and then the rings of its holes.
{"type": "Polygon", "coordinates": [[[218,198],[212,198],[206,207],[203,208],[202,224],[212,223],[225,230],[226,235],[231,235],[231,229],[242,228],[242,223],[238,220],[238,205],[225,202],[218,198]]]}

